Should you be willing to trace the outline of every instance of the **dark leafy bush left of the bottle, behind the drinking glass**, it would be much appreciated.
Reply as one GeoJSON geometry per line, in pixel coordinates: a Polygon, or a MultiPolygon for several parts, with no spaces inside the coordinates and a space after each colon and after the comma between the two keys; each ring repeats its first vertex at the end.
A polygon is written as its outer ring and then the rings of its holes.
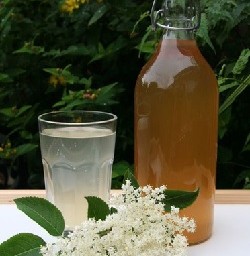
{"type": "Polygon", "coordinates": [[[1,1],[0,158],[5,176],[19,177],[14,186],[43,186],[37,116],[52,109],[114,112],[116,159],[132,161],[133,87],[141,60],[140,39],[131,31],[148,6],[81,2],[74,9],[76,1],[1,1]]]}

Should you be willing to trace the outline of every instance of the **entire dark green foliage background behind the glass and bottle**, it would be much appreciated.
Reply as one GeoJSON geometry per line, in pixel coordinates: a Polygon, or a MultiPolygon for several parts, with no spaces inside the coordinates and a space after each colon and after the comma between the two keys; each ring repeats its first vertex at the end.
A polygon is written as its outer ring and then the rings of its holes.
{"type": "MultiPolygon", "coordinates": [[[[159,1],[160,2],[160,1],[159,1]]],[[[152,1],[0,2],[0,186],[42,188],[37,116],[58,109],[118,115],[113,186],[133,165],[136,77],[159,37],[152,1]],[[125,162],[124,162],[125,161],[125,162]]],[[[200,49],[220,90],[218,188],[250,187],[248,0],[202,0],[200,49]]]]}

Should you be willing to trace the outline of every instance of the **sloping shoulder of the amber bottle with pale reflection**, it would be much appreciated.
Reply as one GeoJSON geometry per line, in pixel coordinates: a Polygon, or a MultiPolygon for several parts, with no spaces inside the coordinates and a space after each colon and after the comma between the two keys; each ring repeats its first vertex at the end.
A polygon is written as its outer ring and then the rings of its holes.
{"type": "Polygon", "coordinates": [[[195,40],[164,39],[142,68],[138,79],[142,83],[165,86],[177,77],[198,77],[206,74],[216,80],[215,74],[202,56],[195,40]]]}

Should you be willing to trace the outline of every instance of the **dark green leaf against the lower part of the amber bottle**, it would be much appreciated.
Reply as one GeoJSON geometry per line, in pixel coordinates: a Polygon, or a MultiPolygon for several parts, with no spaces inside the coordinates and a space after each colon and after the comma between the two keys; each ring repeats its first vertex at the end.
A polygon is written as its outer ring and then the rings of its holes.
{"type": "Polygon", "coordinates": [[[164,194],[165,199],[163,203],[165,204],[165,210],[170,211],[171,206],[175,206],[179,209],[190,206],[198,197],[199,189],[194,192],[166,189],[164,194]]]}

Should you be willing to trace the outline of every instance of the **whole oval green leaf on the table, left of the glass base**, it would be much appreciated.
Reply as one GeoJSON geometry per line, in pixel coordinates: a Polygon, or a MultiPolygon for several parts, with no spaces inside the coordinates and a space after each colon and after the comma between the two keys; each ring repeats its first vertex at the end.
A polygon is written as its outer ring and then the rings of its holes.
{"type": "Polygon", "coordinates": [[[50,235],[62,235],[65,221],[62,213],[52,203],[38,197],[22,197],[14,201],[19,210],[37,222],[50,235]]]}

